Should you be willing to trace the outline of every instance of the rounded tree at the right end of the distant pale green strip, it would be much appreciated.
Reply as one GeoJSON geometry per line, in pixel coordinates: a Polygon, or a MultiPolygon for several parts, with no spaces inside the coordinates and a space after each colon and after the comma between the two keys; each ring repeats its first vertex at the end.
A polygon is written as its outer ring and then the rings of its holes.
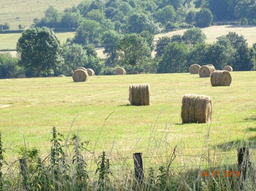
{"type": "Polygon", "coordinates": [[[73,43],[98,43],[101,32],[100,24],[95,20],[83,20],[76,30],[73,43]]]}

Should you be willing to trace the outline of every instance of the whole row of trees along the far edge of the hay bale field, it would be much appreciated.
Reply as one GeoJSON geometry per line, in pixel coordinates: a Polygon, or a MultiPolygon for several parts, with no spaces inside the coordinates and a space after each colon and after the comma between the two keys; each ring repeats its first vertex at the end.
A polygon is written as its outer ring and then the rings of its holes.
{"type": "Polygon", "coordinates": [[[112,75],[117,66],[127,73],[181,73],[191,64],[225,65],[234,71],[256,70],[256,44],[248,47],[246,39],[235,32],[219,36],[207,44],[200,28],[191,28],[183,35],[161,37],[156,43],[153,35],[105,32],[102,36],[104,54],[100,60],[92,44],[67,42],[60,45],[55,33],[46,27],[25,30],[17,42],[18,57],[0,54],[0,78],[71,76],[77,67],[92,68],[96,75],[112,75]],[[155,45],[154,45],[155,44],[155,45]],[[155,57],[152,58],[152,51],[155,57]]]}

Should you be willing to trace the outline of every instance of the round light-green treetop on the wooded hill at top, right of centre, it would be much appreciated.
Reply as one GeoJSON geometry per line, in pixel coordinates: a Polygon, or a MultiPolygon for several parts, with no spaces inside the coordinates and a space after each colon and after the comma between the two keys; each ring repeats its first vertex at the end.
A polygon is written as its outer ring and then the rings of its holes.
{"type": "Polygon", "coordinates": [[[155,18],[158,22],[166,24],[168,21],[173,21],[176,16],[175,9],[172,5],[167,5],[163,8],[159,8],[155,12],[155,18]]]}

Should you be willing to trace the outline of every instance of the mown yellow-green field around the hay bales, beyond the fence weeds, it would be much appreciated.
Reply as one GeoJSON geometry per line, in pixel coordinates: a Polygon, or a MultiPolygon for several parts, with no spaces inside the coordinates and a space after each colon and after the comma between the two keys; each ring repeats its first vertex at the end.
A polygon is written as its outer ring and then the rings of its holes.
{"type": "Polygon", "coordinates": [[[136,151],[147,156],[156,150],[168,153],[178,145],[179,152],[199,155],[205,144],[210,151],[236,153],[240,142],[256,139],[256,72],[231,75],[229,87],[211,87],[209,78],[188,73],[93,76],[85,83],[74,83],[71,77],[2,79],[2,139],[6,147],[16,147],[24,136],[29,146],[45,153],[51,128],[67,134],[75,119],[72,131],[79,128],[89,146],[97,141],[97,154],[112,150],[113,155],[131,157],[136,151]],[[150,85],[150,106],[128,105],[128,85],[137,83],[150,85]],[[211,125],[180,124],[186,93],[211,96],[211,125]]]}

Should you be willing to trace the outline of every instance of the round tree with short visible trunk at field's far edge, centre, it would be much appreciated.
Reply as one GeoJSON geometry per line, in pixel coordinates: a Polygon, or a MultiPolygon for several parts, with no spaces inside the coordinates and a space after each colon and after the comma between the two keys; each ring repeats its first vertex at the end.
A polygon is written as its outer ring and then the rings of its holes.
{"type": "Polygon", "coordinates": [[[139,34],[125,34],[118,42],[116,63],[134,69],[142,67],[151,59],[151,51],[146,39],[139,34]]]}

